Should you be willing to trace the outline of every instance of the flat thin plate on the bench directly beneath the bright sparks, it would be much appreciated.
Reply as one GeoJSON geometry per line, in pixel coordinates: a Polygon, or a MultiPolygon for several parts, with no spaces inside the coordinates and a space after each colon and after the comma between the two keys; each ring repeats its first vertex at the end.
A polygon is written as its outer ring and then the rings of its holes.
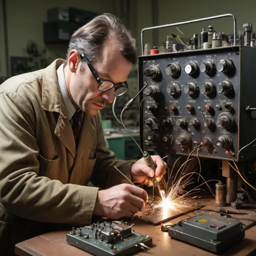
{"type": "Polygon", "coordinates": [[[164,209],[162,207],[156,207],[151,209],[149,205],[147,205],[144,209],[137,212],[135,214],[135,217],[139,219],[143,219],[150,224],[153,225],[159,225],[162,222],[168,221],[170,219],[176,218],[178,216],[181,216],[183,214],[186,214],[190,211],[199,209],[202,207],[200,203],[191,203],[189,205],[184,205],[183,207],[180,207],[178,209],[164,209]]]}

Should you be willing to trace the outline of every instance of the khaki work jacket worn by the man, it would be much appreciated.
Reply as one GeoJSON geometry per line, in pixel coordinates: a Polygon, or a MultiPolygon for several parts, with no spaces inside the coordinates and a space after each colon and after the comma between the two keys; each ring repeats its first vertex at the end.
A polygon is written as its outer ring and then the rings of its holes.
{"type": "Polygon", "coordinates": [[[130,178],[133,161],[109,150],[100,113],[83,114],[75,148],[56,75],[63,61],[0,85],[0,251],[39,222],[90,223],[98,187],[125,182],[113,165],[130,178]]]}

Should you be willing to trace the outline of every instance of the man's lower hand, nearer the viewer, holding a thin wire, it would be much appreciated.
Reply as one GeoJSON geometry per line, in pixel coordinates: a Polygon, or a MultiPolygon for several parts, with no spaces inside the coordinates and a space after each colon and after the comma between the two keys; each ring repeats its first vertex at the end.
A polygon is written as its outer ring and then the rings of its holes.
{"type": "Polygon", "coordinates": [[[120,184],[98,191],[93,214],[111,219],[133,217],[145,206],[147,199],[144,189],[131,184],[120,184]]]}

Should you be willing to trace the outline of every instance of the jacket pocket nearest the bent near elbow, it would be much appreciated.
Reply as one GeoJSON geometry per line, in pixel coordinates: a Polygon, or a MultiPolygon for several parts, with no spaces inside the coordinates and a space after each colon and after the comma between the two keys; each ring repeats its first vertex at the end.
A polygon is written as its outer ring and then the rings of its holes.
{"type": "Polygon", "coordinates": [[[38,175],[40,176],[46,176],[49,178],[55,178],[54,177],[54,170],[57,169],[58,165],[58,160],[59,157],[58,155],[55,156],[54,159],[46,159],[42,155],[38,155],[38,161],[39,161],[39,173],[38,175]]]}

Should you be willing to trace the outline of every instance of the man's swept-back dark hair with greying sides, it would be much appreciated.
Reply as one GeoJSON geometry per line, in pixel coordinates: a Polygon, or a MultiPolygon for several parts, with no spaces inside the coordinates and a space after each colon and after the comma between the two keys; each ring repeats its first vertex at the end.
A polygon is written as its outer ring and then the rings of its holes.
{"type": "Polygon", "coordinates": [[[103,13],[78,28],[71,36],[66,59],[72,49],[84,53],[89,61],[100,57],[101,48],[107,38],[115,37],[121,54],[133,64],[137,59],[137,47],[131,32],[113,14],[103,13]]]}

